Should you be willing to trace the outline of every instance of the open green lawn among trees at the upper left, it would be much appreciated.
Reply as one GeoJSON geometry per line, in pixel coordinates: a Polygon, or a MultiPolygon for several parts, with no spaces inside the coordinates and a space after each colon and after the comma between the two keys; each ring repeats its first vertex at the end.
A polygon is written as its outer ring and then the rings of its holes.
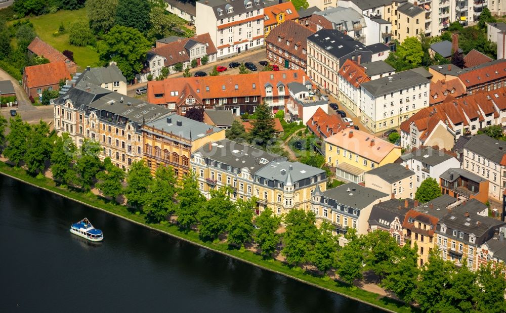
{"type": "Polygon", "coordinates": [[[65,29],[68,29],[70,24],[74,21],[84,20],[88,22],[86,8],[75,11],[62,10],[54,14],[45,14],[28,19],[33,23],[33,28],[40,39],[51,44],[51,46],[60,52],[64,50],[72,51],[74,53],[74,61],[81,70],[87,66],[98,65],[98,53],[93,47],[71,46],[71,44],[68,43],[68,34],[53,36],[53,33],[58,31],[62,22],[65,29]]]}

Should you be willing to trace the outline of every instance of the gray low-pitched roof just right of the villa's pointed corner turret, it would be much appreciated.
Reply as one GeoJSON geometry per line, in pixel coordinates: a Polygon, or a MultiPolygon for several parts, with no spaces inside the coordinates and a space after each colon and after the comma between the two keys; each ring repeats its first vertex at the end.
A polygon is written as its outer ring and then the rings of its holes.
{"type": "Polygon", "coordinates": [[[323,196],[335,200],[345,206],[362,209],[379,198],[388,195],[372,188],[366,188],[355,183],[344,184],[323,192],[323,196]]]}

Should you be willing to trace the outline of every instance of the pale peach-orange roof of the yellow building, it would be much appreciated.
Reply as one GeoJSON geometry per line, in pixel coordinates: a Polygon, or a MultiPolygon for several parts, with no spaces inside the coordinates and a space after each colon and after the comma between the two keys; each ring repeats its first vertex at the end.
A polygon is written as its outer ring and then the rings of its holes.
{"type": "Polygon", "coordinates": [[[401,147],[389,143],[379,137],[370,135],[361,130],[345,128],[333,136],[325,139],[325,142],[341,147],[376,163],[381,162],[390,152],[401,147]],[[350,138],[350,133],[352,137],[350,138]],[[372,146],[371,146],[372,144],[372,146]]]}

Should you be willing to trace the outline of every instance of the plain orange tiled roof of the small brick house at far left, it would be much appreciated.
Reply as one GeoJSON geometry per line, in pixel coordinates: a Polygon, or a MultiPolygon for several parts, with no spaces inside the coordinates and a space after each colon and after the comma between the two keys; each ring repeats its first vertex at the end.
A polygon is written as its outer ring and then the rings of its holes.
{"type": "Polygon", "coordinates": [[[24,69],[28,88],[58,84],[60,79],[71,79],[65,62],[27,66],[24,69]]]}

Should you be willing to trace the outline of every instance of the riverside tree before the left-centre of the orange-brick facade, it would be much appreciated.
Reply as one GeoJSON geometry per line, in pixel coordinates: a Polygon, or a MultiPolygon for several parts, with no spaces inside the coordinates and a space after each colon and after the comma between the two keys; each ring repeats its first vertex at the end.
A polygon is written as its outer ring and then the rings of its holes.
{"type": "Polygon", "coordinates": [[[177,204],[174,201],[177,192],[176,186],[177,178],[174,169],[159,166],[146,194],[143,207],[148,222],[158,223],[164,221],[168,214],[176,211],[177,204]]]}

